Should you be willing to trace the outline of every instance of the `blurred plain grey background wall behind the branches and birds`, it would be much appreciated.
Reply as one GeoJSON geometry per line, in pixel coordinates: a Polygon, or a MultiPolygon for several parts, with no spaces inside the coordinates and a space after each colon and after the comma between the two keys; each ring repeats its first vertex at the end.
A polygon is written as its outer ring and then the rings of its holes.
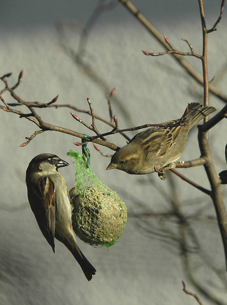
{"type": "MultiPolygon", "coordinates": [[[[188,51],[188,39],[195,52],[201,52],[201,24],[198,4],[182,1],[134,2],[145,16],[165,34],[171,43],[188,51]],[[177,22],[176,22],[177,20],[177,22]]],[[[204,4],[205,5],[205,4],[204,4]]],[[[72,63],[58,45],[54,23],[80,20],[84,25],[95,2],[83,1],[13,1],[4,2],[1,17],[0,74],[13,72],[13,84],[23,69],[22,83],[16,93],[28,101],[49,102],[59,94],[58,103],[71,103],[88,109],[86,98],[94,111],[108,118],[105,94],[97,84],[72,63]]],[[[220,4],[207,1],[208,27],[218,17],[220,4]]],[[[226,17],[218,31],[209,38],[209,77],[218,74],[226,62],[226,17]]],[[[70,33],[72,45],[79,36],[70,33]]],[[[145,123],[160,123],[180,117],[189,102],[200,101],[202,88],[176,65],[170,56],[151,58],[141,50],[159,52],[163,48],[134,20],[121,5],[101,16],[89,35],[87,62],[105,79],[110,90],[116,86],[129,115],[126,120],[113,99],[113,112],[120,127],[145,123]],[[131,122],[130,120],[131,119],[131,122]]],[[[199,71],[200,62],[187,58],[199,71]]],[[[215,83],[214,83],[215,84],[215,83]]],[[[226,93],[226,75],[217,84],[226,93]]],[[[2,88],[2,87],[1,87],[2,88]]],[[[4,95],[6,100],[10,100],[4,95]]],[[[210,104],[221,109],[222,103],[211,96],[210,104]]],[[[24,109],[25,110],[25,109],[24,109]]],[[[25,110],[26,111],[26,110],[25,110]]],[[[39,112],[45,121],[87,132],[73,120],[69,109],[47,109],[39,112]]],[[[12,113],[0,112],[1,130],[1,189],[0,189],[0,303],[1,304],[195,304],[195,300],[182,292],[181,280],[187,289],[197,292],[204,304],[207,300],[190,282],[185,261],[179,248],[179,224],[174,217],[160,217],[171,210],[173,196],[170,179],[161,181],[155,174],[130,176],[117,170],[105,171],[109,159],[100,156],[89,145],[91,169],[110,188],[118,193],[128,208],[128,222],[121,239],[109,249],[93,248],[79,241],[79,246],[97,273],[87,282],[79,265],[64,245],[56,241],[56,253],[43,238],[30,210],[26,196],[25,171],[30,160],[42,152],[57,154],[70,162],[66,152],[76,149],[72,144],[79,139],[47,131],[38,135],[26,147],[18,147],[25,137],[33,134],[36,126],[12,113]],[[150,213],[149,217],[135,214],[150,213]]],[[[90,117],[78,114],[86,122],[90,117]]],[[[225,122],[210,132],[212,154],[217,171],[224,170],[225,122]],[[221,133],[223,131],[223,133],[221,133]]],[[[107,127],[97,122],[101,131],[107,127]]],[[[108,127],[109,128],[109,127],[108,127]]],[[[191,130],[182,160],[199,156],[196,127],[191,130]]],[[[130,135],[133,135],[132,133],[130,135]]],[[[109,137],[119,146],[125,140],[118,135],[109,137]]],[[[103,151],[111,153],[102,148],[103,151]]],[[[80,152],[80,150],[78,150],[80,152]]],[[[74,167],[61,169],[70,189],[74,183],[74,167]]],[[[209,188],[204,170],[182,170],[191,179],[209,188]]],[[[179,179],[175,180],[182,211],[191,220],[201,248],[225,269],[222,242],[211,200],[179,179]],[[205,216],[210,216],[210,220],[205,216]]],[[[225,192],[225,186],[223,186],[225,192]]],[[[226,200],[226,199],[225,199],[226,200]]],[[[189,240],[190,243],[190,240],[189,240]]],[[[222,298],[227,304],[224,286],[200,258],[191,241],[193,266],[202,285],[222,298]],[[214,282],[211,282],[211,279],[214,282]],[[213,287],[211,289],[211,287],[213,287]]],[[[204,258],[204,257],[203,257],[204,258]]]]}

